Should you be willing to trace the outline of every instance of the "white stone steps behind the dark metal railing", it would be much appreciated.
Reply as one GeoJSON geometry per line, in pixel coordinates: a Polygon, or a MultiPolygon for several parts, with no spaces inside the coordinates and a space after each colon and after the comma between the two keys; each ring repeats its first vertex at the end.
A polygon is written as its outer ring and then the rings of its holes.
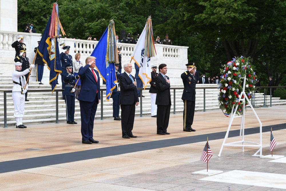
{"type": "MultiPolygon", "coordinates": [[[[0,85],[1,90],[12,90],[13,82],[11,80],[11,75],[6,75],[5,73],[0,73],[0,85]]],[[[210,87],[213,86],[214,88],[206,89],[206,110],[214,110],[219,109],[218,104],[218,96],[219,90],[216,88],[217,85],[197,85],[196,89],[196,111],[203,111],[203,104],[204,104],[204,96],[203,96],[203,89],[199,87],[210,87]]],[[[182,86],[177,86],[182,87],[182,86]]],[[[102,89],[105,88],[104,86],[101,87],[102,89]]],[[[23,118],[24,124],[39,124],[39,123],[55,123],[56,122],[56,93],[55,92],[41,92],[40,90],[48,89],[51,90],[51,86],[49,84],[39,85],[38,82],[29,82],[29,89],[30,90],[39,90],[39,92],[29,92],[28,97],[29,102],[25,102],[25,116],[23,118]]],[[[57,86],[57,89],[61,89],[61,85],[57,86]]],[[[149,90],[143,90],[143,95],[145,96],[142,98],[142,115],[150,115],[151,109],[151,101],[150,101],[150,93],[149,90]]],[[[183,111],[183,102],[181,99],[182,96],[182,89],[176,89],[176,98],[175,98],[175,109],[176,113],[180,113],[183,111]]],[[[105,95],[105,91],[103,92],[105,95]]],[[[171,106],[171,113],[174,111],[174,91],[171,90],[171,99],[172,99],[172,106],[171,106]]],[[[140,100],[140,98],[139,98],[140,100]]],[[[264,102],[264,96],[262,93],[256,94],[255,105],[262,106],[264,102]]],[[[267,96],[267,104],[270,105],[270,97],[267,96]]],[[[286,105],[286,100],[280,100],[279,98],[272,98],[272,105],[286,105]]],[[[4,127],[4,93],[0,91],[0,127],[4,127]]],[[[59,112],[59,122],[66,121],[66,113],[65,113],[65,101],[61,99],[61,92],[59,92],[59,105],[58,105],[58,112],[59,112]]],[[[103,98],[103,117],[111,118],[112,117],[112,99],[110,101],[106,101],[105,96],[103,98]]],[[[120,111],[121,113],[121,111],[120,111]]],[[[15,118],[13,117],[14,114],[14,105],[12,99],[12,93],[7,93],[7,126],[15,125],[15,118]]],[[[136,116],[140,116],[140,103],[139,106],[136,107],[135,111],[136,116]]],[[[101,105],[98,105],[98,109],[96,112],[96,119],[101,119],[101,105]]],[[[75,104],[75,121],[80,121],[80,104],[79,101],[76,100],[75,104]]]]}

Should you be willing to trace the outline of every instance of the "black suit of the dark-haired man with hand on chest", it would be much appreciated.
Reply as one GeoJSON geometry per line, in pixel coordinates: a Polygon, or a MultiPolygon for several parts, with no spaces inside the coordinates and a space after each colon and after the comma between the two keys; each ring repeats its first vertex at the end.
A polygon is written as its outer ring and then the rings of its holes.
{"type": "MultiPolygon", "coordinates": [[[[169,79],[168,76],[166,76],[169,79]]],[[[159,74],[156,77],[156,105],[157,105],[157,133],[166,133],[169,125],[170,110],[171,110],[171,92],[170,84],[166,79],[159,74]]]]}

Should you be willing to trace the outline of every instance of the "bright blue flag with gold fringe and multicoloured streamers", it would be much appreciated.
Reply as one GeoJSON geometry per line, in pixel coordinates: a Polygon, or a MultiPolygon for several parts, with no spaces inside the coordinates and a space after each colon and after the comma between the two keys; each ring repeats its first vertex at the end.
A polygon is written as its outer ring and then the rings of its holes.
{"type": "Polygon", "coordinates": [[[115,39],[114,21],[110,20],[104,34],[90,56],[96,57],[95,65],[102,79],[106,82],[106,100],[109,101],[117,82],[115,66],[118,52],[115,39]]]}

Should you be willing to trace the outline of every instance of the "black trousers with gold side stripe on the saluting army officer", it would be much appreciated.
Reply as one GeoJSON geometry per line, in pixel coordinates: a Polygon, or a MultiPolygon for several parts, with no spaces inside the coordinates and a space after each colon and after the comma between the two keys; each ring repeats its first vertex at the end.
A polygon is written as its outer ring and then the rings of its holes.
{"type": "Polygon", "coordinates": [[[183,112],[183,129],[190,130],[194,121],[195,102],[189,100],[183,100],[184,112],[183,112]]]}

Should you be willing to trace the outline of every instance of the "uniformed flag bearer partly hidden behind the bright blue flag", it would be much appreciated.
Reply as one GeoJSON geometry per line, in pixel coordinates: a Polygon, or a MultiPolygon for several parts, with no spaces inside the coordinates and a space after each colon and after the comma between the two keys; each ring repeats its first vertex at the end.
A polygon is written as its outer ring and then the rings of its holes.
{"type": "Polygon", "coordinates": [[[119,76],[121,76],[121,74],[118,72],[119,64],[114,64],[114,65],[115,65],[115,72],[116,72],[117,83],[115,84],[116,87],[112,90],[113,117],[114,117],[115,121],[121,121],[121,118],[119,117],[119,108],[120,108],[119,76]]]}

